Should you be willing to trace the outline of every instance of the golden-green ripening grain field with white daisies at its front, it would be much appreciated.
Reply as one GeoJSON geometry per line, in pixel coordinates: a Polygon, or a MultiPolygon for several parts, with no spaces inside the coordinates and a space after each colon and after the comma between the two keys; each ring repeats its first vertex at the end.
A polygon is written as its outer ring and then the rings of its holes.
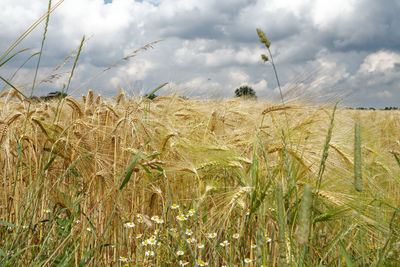
{"type": "Polygon", "coordinates": [[[16,96],[0,99],[2,265],[400,263],[399,111],[16,96]]]}

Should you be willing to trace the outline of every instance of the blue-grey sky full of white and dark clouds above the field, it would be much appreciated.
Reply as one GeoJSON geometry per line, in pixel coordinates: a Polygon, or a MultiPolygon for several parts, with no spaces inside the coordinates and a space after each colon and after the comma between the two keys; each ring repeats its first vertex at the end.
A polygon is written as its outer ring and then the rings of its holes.
{"type": "MultiPolygon", "coordinates": [[[[0,53],[47,6],[2,0],[0,53]]],[[[143,95],[168,82],[158,94],[232,98],[249,85],[259,98],[279,100],[273,68],[261,60],[268,51],[260,28],[271,41],[285,100],[400,106],[399,12],[400,0],[64,0],[50,15],[34,94],[68,84],[75,58],[65,59],[85,36],[68,88],[73,96],[88,89],[143,95]]],[[[0,76],[27,94],[44,29],[43,22],[13,51],[29,50],[0,67],[0,76]]]]}

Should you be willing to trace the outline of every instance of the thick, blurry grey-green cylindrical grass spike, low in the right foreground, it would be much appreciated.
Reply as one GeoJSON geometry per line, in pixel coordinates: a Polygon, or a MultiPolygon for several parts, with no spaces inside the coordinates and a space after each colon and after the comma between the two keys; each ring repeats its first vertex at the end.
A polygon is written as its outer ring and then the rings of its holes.
{"type": "Polygon", "coordinates": [[[299,213],[298,242],[300,245],[308,244],[311,224],[312,188],[306,184],[299,213]]]}

